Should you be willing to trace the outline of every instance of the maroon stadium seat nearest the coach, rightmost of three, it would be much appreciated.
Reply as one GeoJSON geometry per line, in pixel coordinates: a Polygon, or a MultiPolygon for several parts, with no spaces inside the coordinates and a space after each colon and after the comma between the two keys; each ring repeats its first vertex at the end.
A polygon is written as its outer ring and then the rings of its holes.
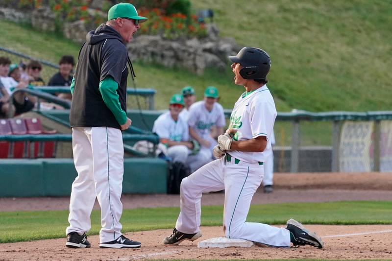
{"type": "MultiPolygon", "coordinates": [[[[56,130],[44,130],[38,118],[25,119],[27,134],[54,134],[56,130]]],[[[31,144],[30,144],[31,146],[31,144]]],[[[55,142],[34,142],[33,158],[54,158],[55,142]]]]}

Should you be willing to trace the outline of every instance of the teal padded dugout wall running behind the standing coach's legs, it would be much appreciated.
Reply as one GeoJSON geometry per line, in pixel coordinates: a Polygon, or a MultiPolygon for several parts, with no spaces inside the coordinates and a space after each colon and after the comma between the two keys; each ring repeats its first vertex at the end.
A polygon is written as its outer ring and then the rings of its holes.
{"type": "MultiPolygon", "coordinates": [[[[166,193],[167,163],[125,158],[123,193],[166,193]]],[[[73,159],[0,161],[0,197],[69,196],[77,176],[73,159]]]]}

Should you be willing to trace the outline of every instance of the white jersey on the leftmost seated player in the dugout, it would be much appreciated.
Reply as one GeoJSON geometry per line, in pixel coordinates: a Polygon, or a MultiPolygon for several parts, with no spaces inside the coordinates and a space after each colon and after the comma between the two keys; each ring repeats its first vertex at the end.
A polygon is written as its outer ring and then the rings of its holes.
{"type": "Polygon", "coordinates": [[[158,134],[161,139],[169,139],[174,142],[189,141],[188,124],[181,117],[175,121],[170,115],[170,111],[155,120],[152,131],[158,134]]]}

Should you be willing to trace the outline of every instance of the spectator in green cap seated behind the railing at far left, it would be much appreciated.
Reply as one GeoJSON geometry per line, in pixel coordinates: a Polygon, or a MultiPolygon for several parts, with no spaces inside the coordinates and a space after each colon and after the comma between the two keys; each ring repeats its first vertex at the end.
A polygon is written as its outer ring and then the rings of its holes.
{"type": "MultiPolygon", "coordinates": [[[[21,80],[21,75],[22,73],[17,64],[11,64],[9,66],[8,76],[15,80],[19,89],[27,88],[27,82],[21,80]]],[[[29,97],[24,92],[15,94],[13,103],[16,109],[16,114],[31,111],[34,108],[36,101],[36,97],[29,97]]]]}

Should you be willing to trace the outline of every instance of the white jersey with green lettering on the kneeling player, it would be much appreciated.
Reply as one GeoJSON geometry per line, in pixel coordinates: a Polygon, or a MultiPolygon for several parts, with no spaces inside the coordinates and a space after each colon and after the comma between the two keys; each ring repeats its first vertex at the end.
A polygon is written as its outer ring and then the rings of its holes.
{"type": "Polygon", "coordinates": [[[229,154],[248,163],[265,162],[272,153],[270,137],[277,112],[270,90],[266,85],[244,93],[234,105],[230,116],[229,128],[237,129],[235,141],[246,141],[259,136],[267,137],[267,146],[263,152],[244,152],[232,150],[229,154]]]}

